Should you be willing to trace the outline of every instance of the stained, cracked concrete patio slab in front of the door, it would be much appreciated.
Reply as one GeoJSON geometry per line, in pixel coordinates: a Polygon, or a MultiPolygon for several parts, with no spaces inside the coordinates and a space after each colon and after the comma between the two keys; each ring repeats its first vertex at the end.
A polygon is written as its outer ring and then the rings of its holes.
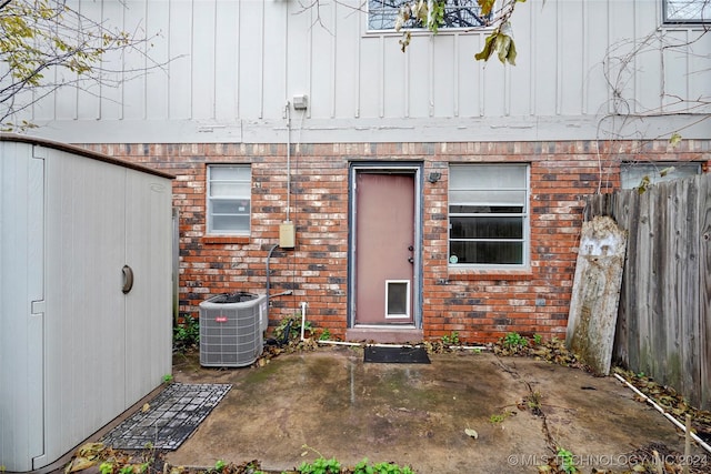
{"type": "MultiPolygon", "coordinates": [[[[322,455],[418,473],[535,473],[558,446],[588,473],[629,470],[632,453],[651,443],[684,451],[682,434],[614,377],[485,351],[430,359],[363,363],[361,347],[337,346],[218,370],[178,355],[177,382],[233,386],[167,461],[210,467],[257,460],[279,472],[322,455]]],[[[711,468],[708,453],[693,453],[695,467],[711,468]]]]}

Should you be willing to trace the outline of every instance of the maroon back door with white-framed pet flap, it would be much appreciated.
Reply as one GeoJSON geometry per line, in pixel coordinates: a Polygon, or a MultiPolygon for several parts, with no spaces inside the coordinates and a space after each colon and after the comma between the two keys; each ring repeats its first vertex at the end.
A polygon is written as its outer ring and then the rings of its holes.
{"type": "Polygon", "coordinates": [[[413,324],[414,174],[356,175],[356,325],[413,324]]]}

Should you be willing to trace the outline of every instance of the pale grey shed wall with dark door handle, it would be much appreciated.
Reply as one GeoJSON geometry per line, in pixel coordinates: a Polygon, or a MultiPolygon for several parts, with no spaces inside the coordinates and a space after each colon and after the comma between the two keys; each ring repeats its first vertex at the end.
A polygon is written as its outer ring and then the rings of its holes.
{"type": "Polygon", "coordinates": [[[171,372],[172,194],[148,169],[14,140],[0,140],[0,465],[24,472],[171,372]]]}

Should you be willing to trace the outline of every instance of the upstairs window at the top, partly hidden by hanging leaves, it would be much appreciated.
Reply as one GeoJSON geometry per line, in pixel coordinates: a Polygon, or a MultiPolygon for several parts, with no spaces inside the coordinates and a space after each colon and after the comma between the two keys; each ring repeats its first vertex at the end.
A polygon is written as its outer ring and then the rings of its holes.
{"type": "MultiPolygon", "coordinates": [[[[413,0],[368,0],[368,29],[393,30],[401,8],[412,6],[413,0]]],[[[478,0],[448,1],[440,29],[473,28],[487,26],[491,14],[482,17],[478,0]]],[[[421,22],[410,19],[403,28],[423,28],[421,22]]]]}

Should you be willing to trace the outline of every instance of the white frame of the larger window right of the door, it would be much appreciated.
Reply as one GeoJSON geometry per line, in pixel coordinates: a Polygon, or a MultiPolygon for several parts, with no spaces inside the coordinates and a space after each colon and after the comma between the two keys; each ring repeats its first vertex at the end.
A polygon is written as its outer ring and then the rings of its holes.
{"type": "MultiPolygon", "coordinates": [[[[450,164],[450,188],[449,188],[449,202],[448,202],[448,236],[447,236],[447,250],[448,250],[448,264],[450,269],[475,269],[475,270],[528,270],[530,268],[530,248],[531,248],[531,210],[530,210],[530,196],[531,196],[531,167],[528,163],[462,163],[450,164]],[[524,168],[524,182],[520,186],[501,188],[497,183],[472,183],[467,188],[459,188],[452,185],[452,175],[457,173],[458,169],[475,169],[477,167],[485,168],[524,168]],[[475,206],[479,202],[457,202],[452,200],[452,191],[474,191],[474,192],[490,192],[497,191],[513,191],[523,192],[523,200],[520,202],[522,211],[517,213],[497,213],[497,212],[452,212],[452,205],[472,205],[475,206]],[[457,261],[455,256],[451,253],[452,239],[452,216],[514,216],[521,219],[521,262],[520,263],[461,263],[457,261]]],[[[484,203],[481,203],[485,205],[484,203]]],[[[497,239],[472,239],[481,242],[497,242],[497,239]]],[[[512,239],[502,239],[501,241],[512,241],[512,239]]]]}

